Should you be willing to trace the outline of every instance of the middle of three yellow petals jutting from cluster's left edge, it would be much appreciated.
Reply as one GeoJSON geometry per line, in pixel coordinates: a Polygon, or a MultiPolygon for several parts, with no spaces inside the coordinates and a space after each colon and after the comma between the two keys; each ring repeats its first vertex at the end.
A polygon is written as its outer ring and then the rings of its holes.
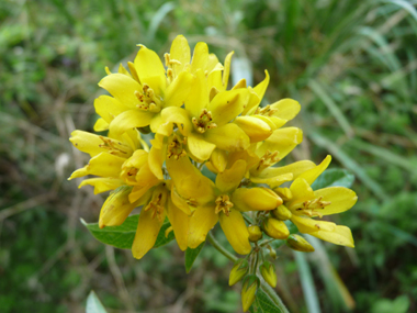
{"type": "Polygon", "coordinates": [[[86,175],[119,178],[122,165],[125,160],[125,158],[115,155],[101,153],[91,158],[87,166],[72,172],[69,179],[86,175]]]}

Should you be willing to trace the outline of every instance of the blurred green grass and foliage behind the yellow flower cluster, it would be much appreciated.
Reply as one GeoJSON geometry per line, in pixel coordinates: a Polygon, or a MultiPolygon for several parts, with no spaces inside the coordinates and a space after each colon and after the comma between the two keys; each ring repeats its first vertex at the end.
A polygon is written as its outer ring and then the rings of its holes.
{"type": "Polygon", "coordinates": [[[269,103],[302,103],[304,142],[289,160],[331,154],[330,167],[357,178],[358,204],[334,219],[356,249],[322,243],[302,260],[278,250],[290,311],[313,312],[308,293],[322,312],[416,312],[416,5],[0,1],[0,311],[83,312],[93,289],[109,312],[240,312],[232,264],[208,244],[189,275],[174,243],[139,261],[105,247],[79,221],[95,222],[103,197],[66,180],[88,161],[68,137],[92,131],[104,67],[133,60],[138,43],[162,56],[183,34],[221,59],[234,49],[234,80],[258,83],[268,69],[269,103]]]}

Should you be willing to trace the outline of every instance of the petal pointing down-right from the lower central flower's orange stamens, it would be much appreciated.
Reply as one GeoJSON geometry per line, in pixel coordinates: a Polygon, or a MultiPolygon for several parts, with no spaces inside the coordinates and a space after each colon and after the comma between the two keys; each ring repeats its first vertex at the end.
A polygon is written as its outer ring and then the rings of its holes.
{"type": "Polygon", "coordinates": [[[249,254],[251,250],[249,232],[241,213],[230,210],[228,216],[221,212],[218,217],[222,230],[234,250],[239,255],[249,254]]]}

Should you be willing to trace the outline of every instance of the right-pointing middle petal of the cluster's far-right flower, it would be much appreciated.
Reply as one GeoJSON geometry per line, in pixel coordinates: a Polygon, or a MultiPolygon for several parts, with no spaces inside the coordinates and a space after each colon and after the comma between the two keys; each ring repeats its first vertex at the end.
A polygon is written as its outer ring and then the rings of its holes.
{"type": "Polygon", "coordinates": [[[348,211],[357,203],[358,195],[353,190],[345,187],[329,187],[314,191],[315,198],[323,197],[324,201],[331,202],[320,210],[323,215],[330,215],[348,211]]]}

